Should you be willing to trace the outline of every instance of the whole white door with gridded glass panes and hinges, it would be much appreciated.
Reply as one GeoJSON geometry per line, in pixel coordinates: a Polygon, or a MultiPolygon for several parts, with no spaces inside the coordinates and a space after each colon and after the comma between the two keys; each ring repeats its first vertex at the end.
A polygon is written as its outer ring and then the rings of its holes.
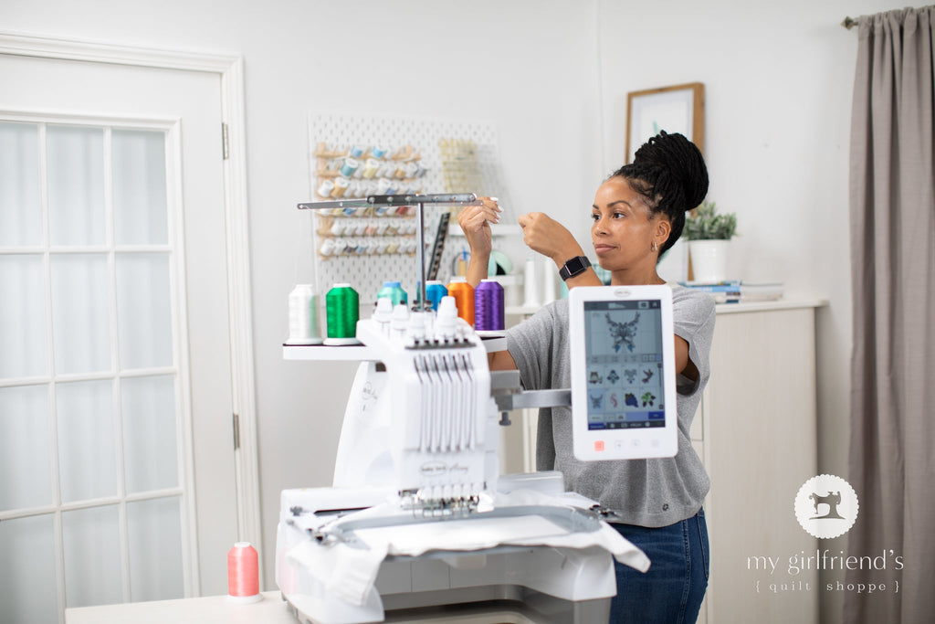
{"type": "Polygon", "coordinates": [[[226,592],[220,78],[0,54],[0,604],[226,592]]]}

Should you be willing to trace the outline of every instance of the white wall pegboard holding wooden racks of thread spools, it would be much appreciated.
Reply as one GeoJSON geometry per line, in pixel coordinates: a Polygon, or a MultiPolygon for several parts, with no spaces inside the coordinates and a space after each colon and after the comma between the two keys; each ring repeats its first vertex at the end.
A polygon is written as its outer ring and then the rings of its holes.
{"type": "MultiPolygon", "coordinates": [[[[505,214],[511,216],[496,154],[496,131],[489,123],[309,113],[309,179],[314,201],[474,193],[498,197],[505,214]]],[[[454,223],[457,210],[451,205],[425,207],[426,258],[431,257],[441,215],[449,212],[454,223]]],[[[376,301],[383,281],[398,280],[414,298],[418,225],[413,207],[309,213],[314,220],[312,254],[318,295],[324,296],[334,283],[350,283],[364,307],[376,301]]],[[[463,246],[463,239],[446,241],[438,260],[439,280],[452,276],[453,260],[463,246]]]]}

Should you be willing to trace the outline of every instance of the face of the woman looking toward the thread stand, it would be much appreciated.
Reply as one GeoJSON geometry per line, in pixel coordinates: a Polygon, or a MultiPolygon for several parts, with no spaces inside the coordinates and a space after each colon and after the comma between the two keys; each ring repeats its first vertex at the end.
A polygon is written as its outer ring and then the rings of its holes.
{"type": "Polygon", "coordinates": [[[669,219],[651,215],[646,200],[626,179],[614,176],[597,189],[591,210],[591,240],[602,268],[654,268],[658,251],[669,237],[669,219]]]}

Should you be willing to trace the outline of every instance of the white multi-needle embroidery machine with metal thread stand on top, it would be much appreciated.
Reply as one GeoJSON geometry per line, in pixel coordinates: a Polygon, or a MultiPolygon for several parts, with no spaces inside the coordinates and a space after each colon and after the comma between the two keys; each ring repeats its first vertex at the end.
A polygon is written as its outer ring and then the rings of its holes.
{"type": "MultiPolygon", "coordinates": [[[[424,279],[424,205],[477,205],[473,195],[371,196],[329,209],[415,206],[424,279]]],[[[424,292],[420,301],[425,301],[424,292]]],[[[492,373],[482,339],[453,299],[436,312],[387,307],[357,324],[363,360],[338,443],[333,487],[281,495],[276,581],[300,619],[399,621],[509,610],[510,621],[607,621],[612,559],[649,560],[564,491],[558,472],[499,475],[500,424],[513,409],[568,405],[568,390],[525,392],[516,371],[492,373]],[[501,421],[502,418],[502,421],[501,421]]],[[[287,347],[324,349],[326,347],[287,347]]],[[[485,620],[471,620],[485,621],[485,620]]],[[[500,620],[497,620],[500,621],[500,620]]]]}

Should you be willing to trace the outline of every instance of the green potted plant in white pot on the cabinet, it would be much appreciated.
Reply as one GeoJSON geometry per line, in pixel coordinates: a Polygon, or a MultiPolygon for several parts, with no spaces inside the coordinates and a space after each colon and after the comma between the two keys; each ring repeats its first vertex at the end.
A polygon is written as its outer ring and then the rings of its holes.
{"type": "Polygon", "coordinates": [[[695,282],[726,281],[727,241],[736,234],[737,214],[718,214],[717,206],[707,199],[685,219],[684,236],[695,282]]]}

